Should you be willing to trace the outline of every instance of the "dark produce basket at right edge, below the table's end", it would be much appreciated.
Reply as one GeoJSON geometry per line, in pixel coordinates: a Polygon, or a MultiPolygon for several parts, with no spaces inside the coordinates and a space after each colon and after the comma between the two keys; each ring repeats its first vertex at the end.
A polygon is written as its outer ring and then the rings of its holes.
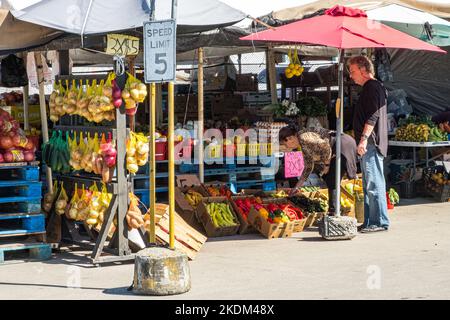
{"type": "Polygon", "coordinates": [[[433,166],[423,170],[425,189],[436,200],[447,202],[450,200],[450,175],[444,166],[433,166]]]}

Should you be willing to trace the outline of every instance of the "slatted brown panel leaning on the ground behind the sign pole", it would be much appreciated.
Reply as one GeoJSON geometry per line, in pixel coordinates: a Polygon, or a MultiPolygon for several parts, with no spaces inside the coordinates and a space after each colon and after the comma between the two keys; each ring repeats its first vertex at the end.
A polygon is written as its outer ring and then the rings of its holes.
{"type": "MultiPolygon", "coordinates": [[[[156,223],[156,237],[162,244],[168,244],[170,240],[168,208],[166,206],[164,215],[156,223]]],[[[190,260],[194,260],[208,238],[187,224],[177,213],[174,217],[175,248],[184,252],[190,260]]]]}

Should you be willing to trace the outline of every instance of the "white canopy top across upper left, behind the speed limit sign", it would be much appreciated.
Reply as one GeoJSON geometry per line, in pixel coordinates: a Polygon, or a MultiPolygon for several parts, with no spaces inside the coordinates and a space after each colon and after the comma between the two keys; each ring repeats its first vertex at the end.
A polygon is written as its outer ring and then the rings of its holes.
{"type": "MultiPolygon", "coordinates": [[[[67,34],[141,29],[149,20],[149,13],[145,0],[3,0],[0,54],[42,46],[67,34]],[[27,35],[20,36],[22,33],[27,35]]],[[[156,1],[155,19],[170,16],[171,1],[156,1]]],[[[212,30],[233,25],[245,17],[245,13],[217,0],[178,0],[177,32],[212,30]]]]}

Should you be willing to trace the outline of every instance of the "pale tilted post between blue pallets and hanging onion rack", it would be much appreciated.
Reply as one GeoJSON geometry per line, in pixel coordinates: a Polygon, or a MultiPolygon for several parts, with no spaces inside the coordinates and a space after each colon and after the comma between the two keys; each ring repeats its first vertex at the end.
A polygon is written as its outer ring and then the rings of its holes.
{"type": "MultiPolygon", "coordinates": [[[[39,104],[41,112],[41,126],[42,126],[42,140],[43,143],[48,142],[48,125],[47,125],[47,106],[45,104],[45,88],[44,88],[44,71],[42,66],[42,56],[40,52],[34,53],[34,60],[36,64],[36,73],[39,84],[39,104]]],[[[47,190],[53,193],[53,177],[52,169],[46,166],[46,180],[47,180],[47,190]]]]}

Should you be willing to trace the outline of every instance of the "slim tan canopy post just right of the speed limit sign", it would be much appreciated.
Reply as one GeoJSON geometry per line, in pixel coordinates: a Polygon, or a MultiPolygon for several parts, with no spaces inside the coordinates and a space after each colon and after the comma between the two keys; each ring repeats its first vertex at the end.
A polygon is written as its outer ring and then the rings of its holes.
{"type": "Polygon", "coordinates": [[[198,49],[198,171],[201,183],[205,182],[205,164],[203,150],[204,130],[204,93],[203,93],[203,48],[198,49]]]}

